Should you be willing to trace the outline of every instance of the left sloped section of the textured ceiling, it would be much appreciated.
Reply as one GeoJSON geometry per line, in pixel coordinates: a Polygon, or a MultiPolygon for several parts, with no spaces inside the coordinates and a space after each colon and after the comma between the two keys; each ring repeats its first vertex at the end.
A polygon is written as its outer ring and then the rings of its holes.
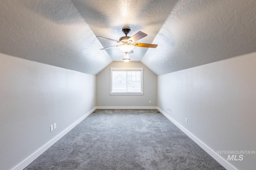
{"type": "Polygon", "coordinates": [[[70,0],[0,1],[0,52],[96,75],[112,62],[70,0]]]}

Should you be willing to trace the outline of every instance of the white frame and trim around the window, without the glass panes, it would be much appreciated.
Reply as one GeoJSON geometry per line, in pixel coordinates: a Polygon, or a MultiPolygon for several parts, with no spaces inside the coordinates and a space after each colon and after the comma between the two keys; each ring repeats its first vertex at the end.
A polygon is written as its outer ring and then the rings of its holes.
{"type": "Polygon", "coordinates": [[[110,95],[143,95],[143,68],[110,68],[110,95]],[[141,72],[141,92],[112,92],[112,70],[140,71],[141,72]]]}

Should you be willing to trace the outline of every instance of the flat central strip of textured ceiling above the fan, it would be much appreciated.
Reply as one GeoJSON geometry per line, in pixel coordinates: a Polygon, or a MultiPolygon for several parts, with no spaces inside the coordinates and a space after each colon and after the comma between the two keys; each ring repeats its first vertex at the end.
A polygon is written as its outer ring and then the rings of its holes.
{"type": "MultiPolygon", "coordinates": [[[[178,0],[72,0],[96,36],[119,40],[123,27],[130,27],[128,36],[142,31],[148,36],[139,43],[152,43],[178,0]]],[[[118,45],[99,39],[103,47],[118,45]]],[[[131,61],[141,61],[148,48],[135,47],[131,61]]],[[[106,49],[112,61],[122,61],[125,53],[118,47],[106,49]]],[[[156,51],[158,51],[156,49],[156,51]]]]}

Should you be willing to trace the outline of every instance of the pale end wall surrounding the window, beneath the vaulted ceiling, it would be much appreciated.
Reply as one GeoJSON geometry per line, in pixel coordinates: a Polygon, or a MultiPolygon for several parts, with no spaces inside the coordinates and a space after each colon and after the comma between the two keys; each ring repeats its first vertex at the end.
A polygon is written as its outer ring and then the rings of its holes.
{"type": "Polygon", "coordinates": [[[140,62],[112,62],[96,76],[97,108],[153,108],[157,101],[157,76],[140,62]],[[110,95],[110,67],[144,68],[143,95],[110,95]],[[151,100],[151,104],[149,101],[151,100]]]}

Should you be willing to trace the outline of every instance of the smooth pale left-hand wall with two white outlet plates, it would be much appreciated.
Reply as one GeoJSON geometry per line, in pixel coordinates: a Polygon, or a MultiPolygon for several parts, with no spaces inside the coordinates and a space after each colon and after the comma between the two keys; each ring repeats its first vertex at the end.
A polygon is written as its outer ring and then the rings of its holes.
{"type": "Polygon", "coordinates": [[[0,53],[0,169],[24,168],[72,129],[94,109],[95,87],[96,76],[0,53]]]}

